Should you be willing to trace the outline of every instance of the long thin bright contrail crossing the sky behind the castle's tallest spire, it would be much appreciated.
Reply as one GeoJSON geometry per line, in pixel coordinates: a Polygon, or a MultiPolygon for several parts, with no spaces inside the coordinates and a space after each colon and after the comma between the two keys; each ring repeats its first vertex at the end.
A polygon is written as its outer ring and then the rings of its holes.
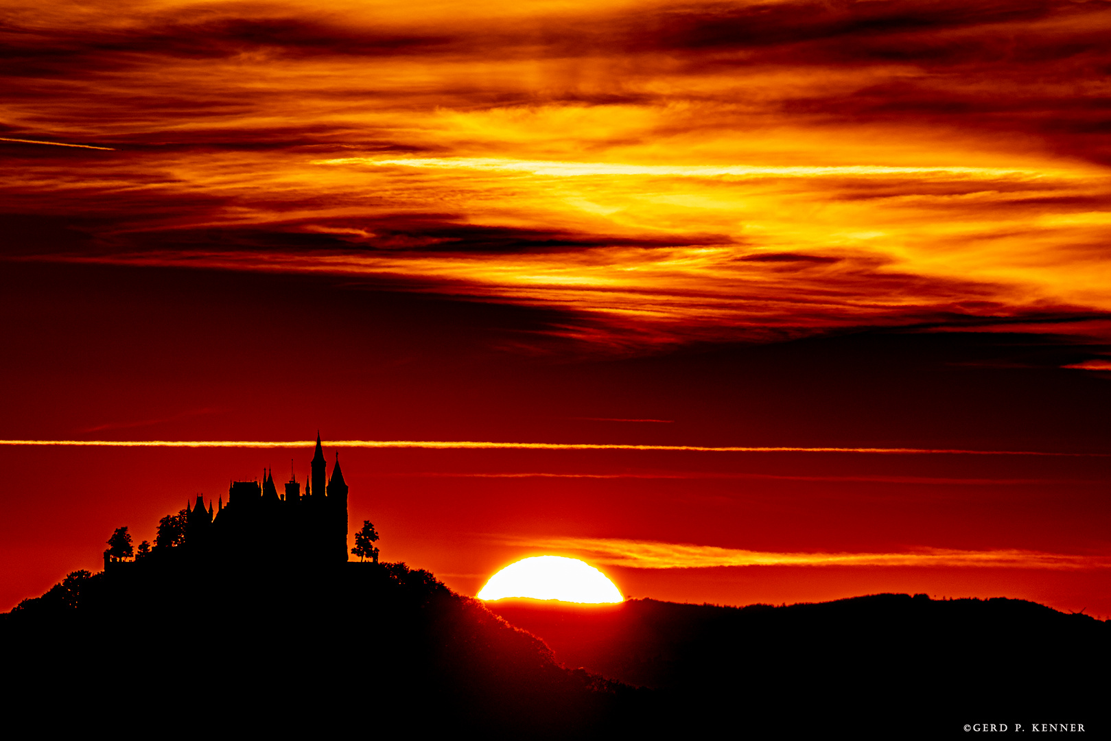
{"type": "MultiPolygon", "coordinates": [[[[306,448],[314,440],[0,440],[0,445],[78,445],[89,448],[306,448]]],[[[635,445],[595,442],[479,442],[471,440],[332,440],[336,448],[429,448],[444,450],[644,450],[708,453],[871,453],[880,455],[1049,455],[1104,458],[1109,453],[955,448],[802,448],[772,445],[635,445]]]]}

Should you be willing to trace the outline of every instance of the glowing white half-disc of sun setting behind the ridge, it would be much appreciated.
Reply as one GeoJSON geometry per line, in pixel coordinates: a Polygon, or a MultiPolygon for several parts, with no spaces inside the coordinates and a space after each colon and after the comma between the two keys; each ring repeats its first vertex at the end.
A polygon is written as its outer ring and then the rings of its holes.
{"type": "Polygon", "coordinates": [[[601,571],[579,559],[562,555],[534,555],[511,563],[490,577],[479,592],[480,600],[506,597],[592,604],[624,601],[601,571]]]}

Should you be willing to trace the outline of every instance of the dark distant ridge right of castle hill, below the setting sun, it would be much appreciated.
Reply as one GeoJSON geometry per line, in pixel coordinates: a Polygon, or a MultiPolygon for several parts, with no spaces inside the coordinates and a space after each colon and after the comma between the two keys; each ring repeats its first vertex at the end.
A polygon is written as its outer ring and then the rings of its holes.
{"type": "Polygon", "coordinates": [[[564,665],[658,688],[677,718],[765,730],[777,719],[794,729],[869,719],[930,732],[984,720],[1107,730],[1098,709],[1111,689],[1111,625],[1022,600],[491,609],[543,638],[564,665]]]}

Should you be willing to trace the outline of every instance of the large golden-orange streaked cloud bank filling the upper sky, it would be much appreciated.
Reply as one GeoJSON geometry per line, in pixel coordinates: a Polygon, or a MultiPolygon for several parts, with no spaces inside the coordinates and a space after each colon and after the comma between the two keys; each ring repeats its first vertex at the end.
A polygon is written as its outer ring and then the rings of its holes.
{"type": "Polygon", "coordinates": [[[0,210],[43,238],[4,256],[543,307],[620,353],[1083,337],[1109,30],[1063,0],[10,8],[0,210]]]}

